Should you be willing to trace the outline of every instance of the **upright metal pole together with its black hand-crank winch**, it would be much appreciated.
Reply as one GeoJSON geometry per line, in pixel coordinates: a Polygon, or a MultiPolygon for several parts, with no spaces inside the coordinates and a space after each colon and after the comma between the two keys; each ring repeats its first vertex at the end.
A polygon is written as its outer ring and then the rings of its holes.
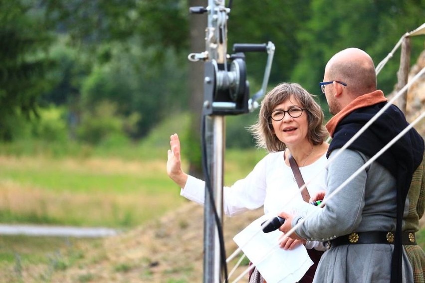
{"type": "Polygon", "coordinates": [[[225,0],[208,0],[208,6],[192,6],[191,13],[208,13],[206,28],[206,50],[191,53],[193,62],[205,61],[203,103],[203,168],[206,174],[204,214],[204,283],[221,283],[227,276],[225,250],[222,238],[223,224],[223,156],[224,115],[248,113],[258,107],[256,102],[265,94],[274,44],[234,44],[235,54],[227,55],[227,17],[229,7],[225,0]],[[267,52],[268,59],[262,89],[248,100],[249,84],[246,80],[245,56],[243,52],[267,52]],[[229,64],[227,63],[229,60],[229,64]],[[208,177],[208,178],[207,178],[208,177]],[[215,209],[214,209],[215,208],[215,209]],[[222,244],[222,246],[221,246],[222,244]],[[224,266],[221,266],[221,265],[224,266]],[[223,271],[223,272],[221,272],[223,271]],[[224,276],[223,276],[224,275],[224,276]]]}

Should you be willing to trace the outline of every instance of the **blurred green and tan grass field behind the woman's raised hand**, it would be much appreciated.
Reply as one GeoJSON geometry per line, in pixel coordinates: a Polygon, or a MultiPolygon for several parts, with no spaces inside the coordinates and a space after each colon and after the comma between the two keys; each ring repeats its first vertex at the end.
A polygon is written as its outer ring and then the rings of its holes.
{"type": "MultiPolygon", "coordinates": [[[[148,160],[0,156],[0,222],[141,225],[185,201],[166,174],[166,151],[148,160]]],[[[225,179],[246,174],[261,154],[229,152],[225,179]]]]}

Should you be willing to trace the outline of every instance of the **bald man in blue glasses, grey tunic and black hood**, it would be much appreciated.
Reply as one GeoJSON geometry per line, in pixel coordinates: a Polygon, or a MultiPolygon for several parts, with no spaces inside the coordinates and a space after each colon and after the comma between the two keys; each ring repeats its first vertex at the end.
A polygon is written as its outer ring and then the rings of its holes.
{"type": "MultiPolygon", "coordinates": [[[[342,50],[329,60],[320,86],[334,115],[326,125],[333,138],[328,149],[332,159],[387,99],[377,90],[372,58],[357,48],[342,50]]],[[[400,109],[394,105],[387,109],[329,164],[327,195],[407,126],[400,109]]],[[[424,140],[411,129],[339,193],[328,200],[325,197],[326,206],[320,212],[305,218],[280,214],[286,219],[282,232],[300,223],[290,237],[323,241],[328,249],[314,283],[413,282],[412,267],[402,248],[402,222],[412,174],[423,154],[424,140]]]]}

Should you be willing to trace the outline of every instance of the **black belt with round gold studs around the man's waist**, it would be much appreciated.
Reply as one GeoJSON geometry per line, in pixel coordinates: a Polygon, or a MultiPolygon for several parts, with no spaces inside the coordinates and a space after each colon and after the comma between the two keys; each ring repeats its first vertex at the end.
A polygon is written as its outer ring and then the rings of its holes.
{"type": "MultiPolygon", "coordinates": [[[[323,245],[327,250],[341,245],[351,244],[394,244],[395,232],[353,232],[330,241],[326,241],[323,245]]],[[[402,233],[403,245],[416,245],[416,237],[414,232],[405,231],[402,233]]]]}

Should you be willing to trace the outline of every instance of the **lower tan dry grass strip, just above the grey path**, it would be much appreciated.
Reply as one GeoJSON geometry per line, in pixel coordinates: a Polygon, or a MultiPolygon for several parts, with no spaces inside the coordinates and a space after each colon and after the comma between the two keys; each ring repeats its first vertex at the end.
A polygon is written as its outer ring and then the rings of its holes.
{"type": "Polygon", "coordinates": [[[133,226],[163,215],[184,199],[169,194],[55,192],[0,181],[0,209],[28,220],[83,226],[133,226]],[[161,201],[158,201],[161,199],[161,201]]]}

